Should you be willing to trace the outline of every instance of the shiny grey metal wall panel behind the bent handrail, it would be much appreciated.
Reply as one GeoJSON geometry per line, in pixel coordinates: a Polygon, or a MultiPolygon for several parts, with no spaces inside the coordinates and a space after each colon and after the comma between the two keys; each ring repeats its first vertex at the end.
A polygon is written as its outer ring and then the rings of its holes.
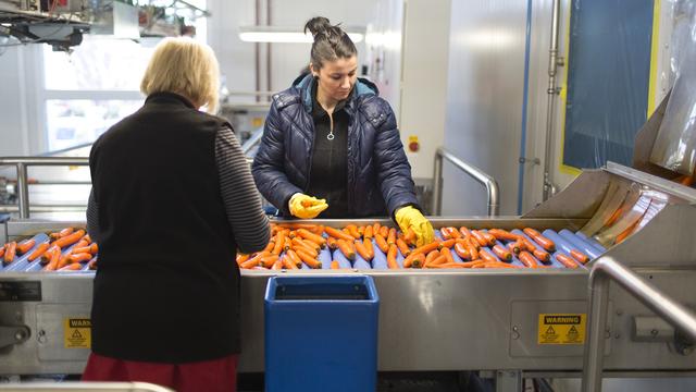
{"type": "MultiPolygon", "coordinates": [[[[526,0],[453,0],[445,145],[500,185],[517,211],[526,0]]],[[[484,215],[480,185],[444,168],[445,215],[484,215]],[[476,192],[472,192],[476,189],[476,192]]]]}

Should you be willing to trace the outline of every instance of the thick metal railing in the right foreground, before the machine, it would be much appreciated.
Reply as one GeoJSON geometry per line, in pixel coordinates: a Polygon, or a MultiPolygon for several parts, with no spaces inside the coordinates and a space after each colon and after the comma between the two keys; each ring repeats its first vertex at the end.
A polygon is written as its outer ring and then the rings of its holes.
{"type": "Polygon", "coordinates": [[[589,311],[587,341],[583,358],[581,391],[601,391],[605,327],[609,304],[609,282],[613,280],[650,310],[672,323],[675,329],[696,340],[696,315],[611,257],[600,257],[589,272],[589,311]]]}

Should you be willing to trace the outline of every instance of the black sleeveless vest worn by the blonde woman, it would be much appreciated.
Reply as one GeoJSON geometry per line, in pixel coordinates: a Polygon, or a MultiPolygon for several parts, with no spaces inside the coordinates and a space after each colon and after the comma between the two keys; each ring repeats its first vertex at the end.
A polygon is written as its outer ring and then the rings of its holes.
{"type": "Polygon", "coordinates": [[[94,144],[95,353],[188,363],[239,352],[239,270],[214,148],[224,126],[154,94],[94,144]]]}

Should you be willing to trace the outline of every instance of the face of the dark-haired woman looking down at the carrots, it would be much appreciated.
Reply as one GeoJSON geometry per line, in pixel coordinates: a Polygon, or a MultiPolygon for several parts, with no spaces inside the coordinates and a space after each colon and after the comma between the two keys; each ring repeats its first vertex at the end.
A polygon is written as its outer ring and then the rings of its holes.
{"type": "Polygon", "coordinates": [[[336,101],[348,98],[358,78],[358,57],[327,61],[316,69],[310,64],[312,74],[319,77],[319,89],[322,96],[336,101]]]}

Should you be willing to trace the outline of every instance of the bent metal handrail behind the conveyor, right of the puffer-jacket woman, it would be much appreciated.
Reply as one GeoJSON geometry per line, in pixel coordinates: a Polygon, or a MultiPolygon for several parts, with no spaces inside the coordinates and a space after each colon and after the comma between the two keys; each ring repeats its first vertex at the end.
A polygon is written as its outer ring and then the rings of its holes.
{"type": "Polygon", "coordinates": [[[435,172],[433,174],[433,215],[439,216],[443,212],[443,160],[447,159],[455,167],[486,187],[488,193],[488,216],[495,217],[500,208],[500,192],[498,183],[494,177],[473,164],[469,164],[449,152],[444,147],[435,151],[435,172]]]}

